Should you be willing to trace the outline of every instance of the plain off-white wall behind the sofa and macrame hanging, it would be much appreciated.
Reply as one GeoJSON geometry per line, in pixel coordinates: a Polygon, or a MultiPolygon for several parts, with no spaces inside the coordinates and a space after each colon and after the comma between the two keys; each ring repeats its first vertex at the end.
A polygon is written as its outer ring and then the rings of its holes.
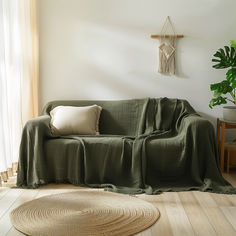
{"type": "Polygon", "coordinates": [[[212,55],[236,39],[235,0],[39,0],[40,107],[55,99],[187,99],[208,118],[212,55]],[[177,33],[177,76],[157,73],[167,16],[177,33]]]}

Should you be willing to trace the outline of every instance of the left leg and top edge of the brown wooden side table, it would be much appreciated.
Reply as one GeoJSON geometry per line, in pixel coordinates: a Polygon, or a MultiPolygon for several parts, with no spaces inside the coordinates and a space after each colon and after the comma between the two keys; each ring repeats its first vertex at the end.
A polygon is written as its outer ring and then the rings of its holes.
{"type": "Polygon", "coordinates": [[[226,121],[217,118],[217,150],[220,153],[220,169],[224,172],[224,151],[225,151],[225,129],[235,129],[236,122],[226,121]],[[221,128],[221,145],[220,145],[220,128],[221,128]]]}

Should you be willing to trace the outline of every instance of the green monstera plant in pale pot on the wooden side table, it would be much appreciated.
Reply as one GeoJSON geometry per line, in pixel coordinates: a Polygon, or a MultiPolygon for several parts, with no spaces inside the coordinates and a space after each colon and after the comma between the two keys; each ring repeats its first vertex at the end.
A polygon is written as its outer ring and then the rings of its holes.
{"type": "Polygon", "coordinates": [[[230,44],[230,47],[224,46],[224,49],[218,49],[214,54],[215,58],[212,59],[216,62],[213,68],[228,68],[228,70],[223,81],[210,85],[214,98],[211,99],[209,107],[213,108],[227,102],[233,103],[233,106],[223,107],[223,118],[236,122],[236,42],[231,40],[230,44]]]}

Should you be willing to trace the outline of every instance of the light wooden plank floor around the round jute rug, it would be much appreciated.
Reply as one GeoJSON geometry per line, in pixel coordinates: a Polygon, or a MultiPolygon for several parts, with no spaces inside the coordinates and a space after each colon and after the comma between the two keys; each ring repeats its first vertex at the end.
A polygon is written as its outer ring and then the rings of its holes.
{"type": "MultiPolygon", "coordinates": [[[[236,172],[224,176],[236,186],[236,172]]],[[[78,189],[72,185],[55,184],[36,190],[0,187],[0,236],[23,235],[12,227],[9,220],[9,212],[20,204],[34,198],[78,189]]],[[[157,223],[138,236],[236,236],[236,195],[192,191],[138,197],[154,204],[161,213],[157,223]]]]}

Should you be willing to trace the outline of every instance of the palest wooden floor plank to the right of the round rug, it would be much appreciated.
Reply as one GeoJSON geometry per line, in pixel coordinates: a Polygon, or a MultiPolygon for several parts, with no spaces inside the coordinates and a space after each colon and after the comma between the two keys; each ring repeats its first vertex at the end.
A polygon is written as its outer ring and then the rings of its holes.
{"type": "Polygon", "coordinates": [[[165,205],[166,213],[175,236],[194,235],[193,228],[184,211],[179,199],[178,193],[163,193],[162,199],[165,205]]]}

